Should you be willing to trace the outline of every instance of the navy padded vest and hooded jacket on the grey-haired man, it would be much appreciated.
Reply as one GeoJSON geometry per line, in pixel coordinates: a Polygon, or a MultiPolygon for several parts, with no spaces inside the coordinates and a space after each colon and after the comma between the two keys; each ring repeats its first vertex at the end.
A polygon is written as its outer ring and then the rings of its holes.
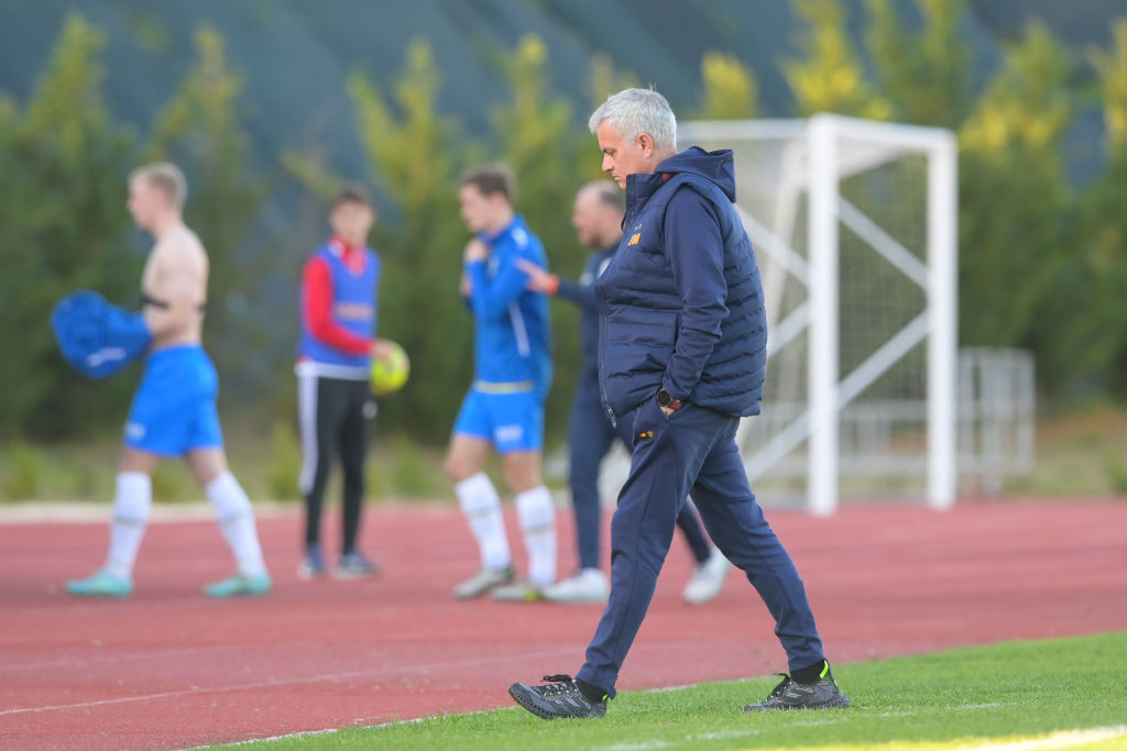
{"type": "Polygon", "coordinates": [[[622,241],[595,284],[600,384],[614,414],[663,386],[724,414],[758,414],[766,312],[735,199],[730,150],[693,146],[627,178],[622,241]]]}

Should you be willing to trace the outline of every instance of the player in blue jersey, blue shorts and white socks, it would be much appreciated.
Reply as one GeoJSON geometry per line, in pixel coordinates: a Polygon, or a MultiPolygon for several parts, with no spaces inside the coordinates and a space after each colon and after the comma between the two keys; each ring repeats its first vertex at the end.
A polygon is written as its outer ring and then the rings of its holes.
{"type": "Polygon", "coordinates": [[[524,259],[547,268],[543,245],[513,209],[512,172],[488,164],[459,187],[465,245],[461,290],[473,314],[473,384],[462,402],[445,470],[481,553],[481,569],[454,589],[459,598],[492,590],[502,600],[535,600],[556,581],[556,508],[541,479],[544,399],[552,361],[548,299],[526,288],[524,259]],[[527,576],[515,581],[500,498],[482,472],[490,449],[505,480],[529,554],[527,576]]]}

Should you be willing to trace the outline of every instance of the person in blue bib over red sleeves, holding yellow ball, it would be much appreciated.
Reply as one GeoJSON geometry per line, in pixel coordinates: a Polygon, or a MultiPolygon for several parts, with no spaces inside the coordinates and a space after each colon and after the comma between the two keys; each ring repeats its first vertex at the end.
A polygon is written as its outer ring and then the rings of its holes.
{"type": "Polygon", "coordinates": [[[375,211],[366,191],[345,186],[332,199],[332,236],[312,254],[301,276],[301,340],[298,346],[298,417],[305,499],[303,579],[326,573],[321,507],[336,458],[344,474],[340,558],[337,578],[376,573],[356,538],[364,506],[364,459],[375,402],[369,387],[372,355],[388,343],[375,338],[380,257],[367,247],[375,211]]]}

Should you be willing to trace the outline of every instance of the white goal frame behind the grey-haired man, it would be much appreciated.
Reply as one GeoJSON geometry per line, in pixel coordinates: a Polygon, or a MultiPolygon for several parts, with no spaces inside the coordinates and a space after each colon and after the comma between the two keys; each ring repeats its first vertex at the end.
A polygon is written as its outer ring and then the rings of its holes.
{"type": "MultiPolygon", "coordinates": [[[[828,516],[838,507],[840,415],[867,386],[926,340],[926,501],[949,509],[958,485],[956,404],[957,384],[957,157],[955,135],[943,128],[862,120],[819,114],[804,120],[715,120],[680,126],[683,146],[708,142],[736,146],[748,138],[775,138],[793,146],[786,159],[780,191],[806,194],[807,247],[802,257],[765,223],[740,211],[756,253],[770,256],[807,289],[804,304],[782,321],[772,319],[772,290],[765,285],[771,325],[769,358],[788,341],[807,336],[807,409],[772,435],[766,446],[745,456],[749,479],[808,441],[807,508],[828,516]],[[854,146],[841,149],[848,138],[854,146]],[[731,142],[726,143],[726,142],[731,142]],[[857,149],[858,144],[863,147],[857,149]],[[921,155],[926,164],[925,259],[906,250],[840,193],[842,179],[905,155],[921,155]],[[845,225],[904,276],[924,290],[924,310],[852,372],[838,367],[838,230],[845,225]]],[[[737,185],[737,206],[738,206],[737,185]]],[[[762,268],[762,260],[761,260],[762,268]]]]}

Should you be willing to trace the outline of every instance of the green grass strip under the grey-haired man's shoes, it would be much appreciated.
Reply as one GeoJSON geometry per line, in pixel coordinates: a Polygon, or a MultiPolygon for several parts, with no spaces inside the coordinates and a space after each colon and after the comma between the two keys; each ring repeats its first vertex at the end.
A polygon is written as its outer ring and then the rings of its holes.
{"type": "Polygon", "coordinates": [[[778,680],[757,678],[622,692],[603,719],[545,722],[514,707],[254,748],[1127,750],[1127,632],[835,665],[834,676],[852,708],[743,713],[778,680]]]}

